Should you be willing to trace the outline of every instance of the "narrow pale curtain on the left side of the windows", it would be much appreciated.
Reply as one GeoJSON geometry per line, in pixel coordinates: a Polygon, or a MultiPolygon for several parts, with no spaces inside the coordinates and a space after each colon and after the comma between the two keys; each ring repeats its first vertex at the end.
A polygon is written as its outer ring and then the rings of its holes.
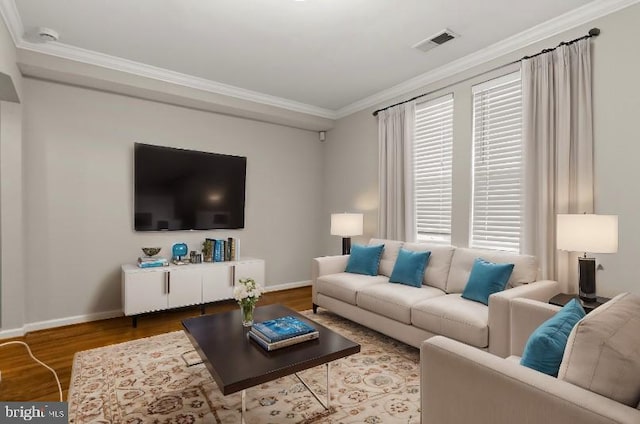
{"type": "Polygon", "coordinates": [[[415,102],[378,113],[378,236],[411,241],[415,234],[412,146],[415,102]]]}

